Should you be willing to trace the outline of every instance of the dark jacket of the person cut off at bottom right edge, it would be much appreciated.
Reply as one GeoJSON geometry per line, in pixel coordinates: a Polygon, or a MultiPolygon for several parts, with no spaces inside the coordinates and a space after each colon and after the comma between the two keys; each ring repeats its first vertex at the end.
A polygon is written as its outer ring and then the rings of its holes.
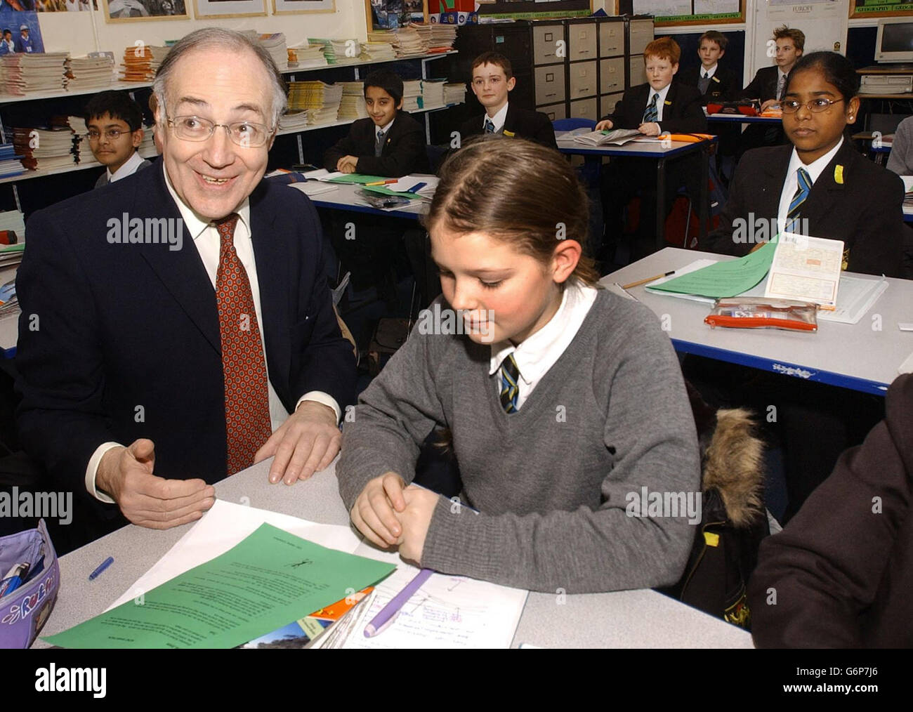
{"type": "Polygon", "coordinates": [[[891,383],[885,420],[847,450],[751,576],[758,647],[913,646],[913,376],[891,383]],[[873,497],[881,509],[873,514],[873,497]],[[768,605],[771,588],[777,604],[768,605]]]}

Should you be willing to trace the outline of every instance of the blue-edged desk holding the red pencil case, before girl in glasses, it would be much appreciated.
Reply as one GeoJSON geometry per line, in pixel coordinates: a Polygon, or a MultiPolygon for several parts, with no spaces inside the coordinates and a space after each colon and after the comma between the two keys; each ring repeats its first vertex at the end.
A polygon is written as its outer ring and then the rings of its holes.
{"type": "MultiPolygon", "coordinates": [[[[624,285],[685,267],[702,257],[735,259],[666,247],[601,281],[624,285]]],[[[710,310],[707,303],[651,294],[645,291],[646,285],[628,291],[657,315],[667,317],[669,337],[676,351],[884,395],[899,375],[897,367],[913,352],[913,332],[897,329],[898,322],[913,321],[913,281],[887,281],[887,291],[857,324],[819,321],[816,333],[711,329],[704,323],[710,310]],[[872,328],[873,314],[881,316],[881,330],[872,328]]]]}

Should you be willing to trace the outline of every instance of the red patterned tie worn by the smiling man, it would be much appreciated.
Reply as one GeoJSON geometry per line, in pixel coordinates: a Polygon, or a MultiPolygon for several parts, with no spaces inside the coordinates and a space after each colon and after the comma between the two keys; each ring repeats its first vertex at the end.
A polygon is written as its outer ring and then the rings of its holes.
{"type": "Polygon", "coordinates": [[[220,241],[215,303],[219,309],[226,384],[229,475],[253,465],[254,454],[272,435],[267,364],[257,311],[247,272],[235,249],[237,220],[238,215],[232,213],[215,223],[220,241]]]}

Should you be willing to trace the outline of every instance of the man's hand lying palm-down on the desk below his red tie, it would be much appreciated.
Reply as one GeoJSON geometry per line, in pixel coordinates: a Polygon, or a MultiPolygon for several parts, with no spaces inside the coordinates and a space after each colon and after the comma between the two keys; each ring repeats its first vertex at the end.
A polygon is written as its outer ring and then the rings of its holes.
{"type": "Polygon", "coordinates": [[[276,455],[269,467],[269,481],[275,485],[284,478],[287,485],[294,485],[330,466],[341,441],[336,412],[323,403],[304,401],[257,450],[254,462],[276,455]]]}

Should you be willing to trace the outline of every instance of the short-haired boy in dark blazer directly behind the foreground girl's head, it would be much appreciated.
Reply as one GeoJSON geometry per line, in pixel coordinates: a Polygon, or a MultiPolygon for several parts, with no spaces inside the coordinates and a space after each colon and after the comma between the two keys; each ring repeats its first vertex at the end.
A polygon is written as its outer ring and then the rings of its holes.
{"type": "Polygon", "coordinates": [[[483,52],[472,60],[472,81],[469,84],[485,113],[465,121],[460,127],[460,140],[471,136],[496,133],[551,146],[557,151],[555,130],[549,117],[541,111],[520,109],[509,101],[509,92],[517,86],[510,60],[498,52],[483,52]]]}

